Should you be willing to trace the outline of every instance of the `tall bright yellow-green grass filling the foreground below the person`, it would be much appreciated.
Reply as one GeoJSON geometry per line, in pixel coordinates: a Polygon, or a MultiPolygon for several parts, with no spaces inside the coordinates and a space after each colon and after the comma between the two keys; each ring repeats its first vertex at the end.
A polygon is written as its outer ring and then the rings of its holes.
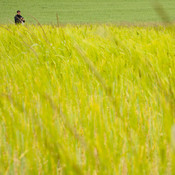
{"type": "Polygon", "coordinates": [[[173,174],[171,27],[1,26],[0,174],[173,174]]]}

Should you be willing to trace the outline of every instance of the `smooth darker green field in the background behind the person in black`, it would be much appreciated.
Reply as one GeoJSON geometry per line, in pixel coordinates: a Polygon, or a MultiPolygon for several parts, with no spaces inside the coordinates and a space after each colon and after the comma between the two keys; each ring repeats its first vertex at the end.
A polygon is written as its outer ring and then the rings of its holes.
{"type": "MultiPolygon", "coordinates": [[[[172,20],[175,18],[175,1],[160,0],[172,20]]],[[[13,22],[18,9],[28,23],[35,16],[42,24],[56,23],[118,23],[158,22],[153,0],[1,0],[0,23],[13,22]]]]}

